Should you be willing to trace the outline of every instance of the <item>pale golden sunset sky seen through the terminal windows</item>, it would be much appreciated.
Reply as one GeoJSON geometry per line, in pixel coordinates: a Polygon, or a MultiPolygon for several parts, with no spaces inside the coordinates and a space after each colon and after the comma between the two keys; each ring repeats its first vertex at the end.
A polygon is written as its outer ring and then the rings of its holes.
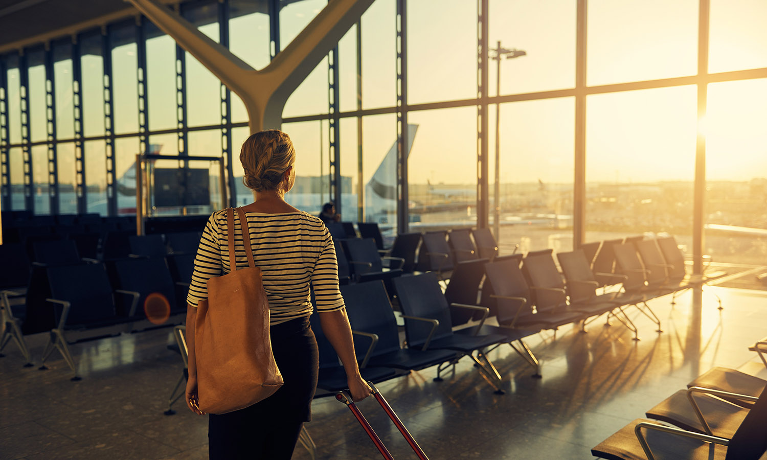
{"type": "MultiPolygon", "coordinates": [[[[305,0],[281,11],[281,46],[308,24],[326,4],[305,0]]],[[[528,93],[574,87],[574,0],[491,0],[489,42],[525,50],[527,55],[504,60],[500,94],[528,93]]],[[[589,85],[624,83],[696,73],[698,2],[696,0],[590,0],[588,2],[589,85]]],[[[476,0],[410,0],[408,2],[409,104],[476,97],[476,0]]],[[[711,0],[709,71],[767,67],[767,2],[711,0]]],[[[396,104],[396,36],[394,0],[376,0],[362,18],[362,107],[396,104]]],[[[218,39],[218,25],[201,30],[218,39]]],[[[356,26],[339,43],[341,111],[356,110],[356,26]]],[[[268,19],[262,14],[235,18],[230,23],[230,47],[255,68],[269,61],[268,19]]],[[[147,43],[150,130],[176,127],[175,44],[166,37],[147,43]]],[[[113,51],[114,131],[135,132],[137,123],[136,46],[113,51]]],[[[102,61],[84,58],[84,130],[104,133],[104,95],[99,77],[102,61]],[[91,114],[91,116],[89,116],[91,114]]],[[[496,94],[496,61],[489,65],[489,94],[496,94]]],[[[60,136],[71,116],[71,64],[57,67],[57,104],[63,113],[60,136]],[[68,76],[68,81],[67,81],[68,76]],[[67,100],[67,97],[69,98],[67,100]],[[68,118],[67,118],[68,117],[68,118]]],[[[186,59],[189,126],[220,123],[219,81],[191,56],[186,59]]],[[[9,110],[18,110],[18,71],[8,74],[9,110]]],[[[44,139],[44,74],[30,70],[31,134],[44,139]]],[[[328,61],[325,58],[288,99],[284,117],[328,111],[328,61]]],[[[232,119],[245,121],[242,102],[232,94],[232,119]]],[[[411,183],[476,183],[476,107],[410,112],[419,125],[410,154],[411,183]]],[[[695,140],[696,87],[596,94],[587,98],[587,181],[654,182],[692,180],[695,140]]],[[[749,180],[767,176],[767,79],[709,85],[709,104],[702,124],[707,136],[707,176],[710,180],[749,180]]],[[[327,173],[328,122],[285,123],[301,159],[299,175],[327,173]],[[321,169],[322,168],[322,169],[321,169]]],[[[495,149],[495,106],[489,113],[490,152],[495,149]]],[[[574,98],[533,100],[500,107],[501,182],[571,183],[574,152],[574,98]]],[[[11,117],[12,142],[19,140],[18,119],[11,117]]],[[[71,130],[69,130],[71,132],[71,130]]],[[[189,153],[220,152],[220,131],[189,133],[189,153]]],[[[247,136],[233,132],[235,158],[247,136]]],[[[393,114],[363,121],[363,182],[367,182],[396,139],[393,114]]],[[[175,134],[153,136],[163,153],[177,153],[175,134]]],[[[340,126],[341,172],[357,172],[357,121],[340,126]]],[[[39,151],[38,151],[39,150],[39,151]]],[[[124,172],[138,150],[136,139],[117,143],[117,173],[124,172]]],[[[74,153],[63,146],[61,180],[74,164],[74,153]]],[[[74,150],[72,151],[74,152],[74,150]]],[[[12,153],[16,158],[18,153],[12,153]]],[[[44,165],[46,153],[33,157],[44,165]]],[[[236,162],[235,162],[236,163],[236,162]]],[[[37,168],[44,179],[44,168],[37,168]]],[[[91,169],[95,169],[91,167],[91,169]]],[[[491,164],[491,182],[494,164],[491,164]]],[[[19,171],[12,165],[12,173],[19,171]]],[[[235,164],[235,175],[241,174],[235,164]]],[[[38,174],[35,174],[37,177],[38,174]]],[[[91,176],[95,178],[95,176],[91,176]]],[[[103,178],[101,178],[103,180],[103,178]]],[[[37,181],[36,181],[37,182],[37,181]]]]}

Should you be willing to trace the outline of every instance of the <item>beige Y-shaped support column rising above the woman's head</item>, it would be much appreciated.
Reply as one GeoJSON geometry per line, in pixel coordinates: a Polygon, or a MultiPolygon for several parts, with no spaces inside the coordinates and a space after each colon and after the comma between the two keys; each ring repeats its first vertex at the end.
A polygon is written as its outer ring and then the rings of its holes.
{"type": "Polygon", "coordinates": [[[293,91],[362,17],[373,0],[333,0],[272,62],[256,71],[156,0],[127,0],[245,103],[251,133],[279,128],[293,91]]]}

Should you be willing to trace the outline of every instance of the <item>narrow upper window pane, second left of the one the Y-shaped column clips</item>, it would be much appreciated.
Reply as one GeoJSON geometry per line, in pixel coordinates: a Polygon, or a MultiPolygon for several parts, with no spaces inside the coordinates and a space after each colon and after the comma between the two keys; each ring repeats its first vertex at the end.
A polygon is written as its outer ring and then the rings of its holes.
{"type": "Polygon", "coordinates": [[[83,133],[85,136],[104,135],[104,58],[100,34],[80,38],[83,133]]]}

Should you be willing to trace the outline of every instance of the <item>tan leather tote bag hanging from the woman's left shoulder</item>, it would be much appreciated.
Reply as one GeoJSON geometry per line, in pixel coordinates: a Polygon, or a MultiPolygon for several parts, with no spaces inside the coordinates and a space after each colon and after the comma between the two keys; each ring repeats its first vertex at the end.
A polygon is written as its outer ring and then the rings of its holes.
{"type": "Polygon", "coordinates": [[[199,409],[224,414],[252,406],[282,386],[269,338],[269,304],[255,266],[245,212],[237,208],[248,267],[235,265],[235,225],[226,209],[229,273],[208,280],[194,327],[199,409]]]}

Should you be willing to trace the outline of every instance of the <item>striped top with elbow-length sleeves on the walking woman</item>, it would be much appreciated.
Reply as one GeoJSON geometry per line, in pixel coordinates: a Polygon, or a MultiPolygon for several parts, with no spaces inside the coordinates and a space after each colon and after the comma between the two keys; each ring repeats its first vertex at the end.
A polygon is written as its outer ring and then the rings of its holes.
{"type": "MultiPolygon", "coordinates": [[[[235,264],[248,266],[239,215],[235,218],[235,264]]],[[[269,302],[271,324],[280,324],[312,311],[309,283],[314,288],[318,311],[344,307],[338,290],[338,265],[333,238],[322,221],[305,212],[264,214],[245,212],[255,266],[261,268],[269,302]]],[[[225,210],[208,219],[195,258],[192,284],[186,301],[197,305],[208,298],[207,281],[229,273],[225,210]]]]}

